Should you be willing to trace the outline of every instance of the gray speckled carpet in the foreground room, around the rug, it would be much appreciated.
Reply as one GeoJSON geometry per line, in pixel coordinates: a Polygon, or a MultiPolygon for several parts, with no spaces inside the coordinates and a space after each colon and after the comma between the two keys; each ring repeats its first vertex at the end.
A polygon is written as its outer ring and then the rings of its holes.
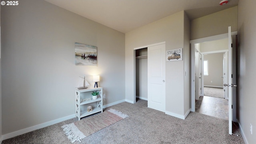
{"type": "MultiPolygon", "coordinates": [[[[234,126],[228,134],[228,120],[190,112],[185,120],[147,107],[146,100],[136,104],[122,102],[109,108],[128,114],[125,118],[74,144],[244,144],[240,130],[234,126]]],[[[109,109],[106,108],[106,109],[109,109]]],[[[61,126],[73,118],[46,128],[22,134],[2,144],[70,144],[61,126]]]]}

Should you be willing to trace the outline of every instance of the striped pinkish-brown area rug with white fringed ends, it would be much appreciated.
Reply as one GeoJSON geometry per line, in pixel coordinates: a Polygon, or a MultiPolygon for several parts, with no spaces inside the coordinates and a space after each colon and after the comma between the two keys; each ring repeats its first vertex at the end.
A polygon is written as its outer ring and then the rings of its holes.
{"type": "Polygon", "coordinates": [[[110,109],[104,111],[100,114],[95,114],[93,116],[89,116],[88,118],[83,118],[80,121],[73,122],[71,124],[66,124],[62,126],[65,134],[68,136],[70,142],[75,142],[85,138],[101,130],[102,128],[106,128],[119,120],[129,117],[126,114],[114,109],[110,109]]]}

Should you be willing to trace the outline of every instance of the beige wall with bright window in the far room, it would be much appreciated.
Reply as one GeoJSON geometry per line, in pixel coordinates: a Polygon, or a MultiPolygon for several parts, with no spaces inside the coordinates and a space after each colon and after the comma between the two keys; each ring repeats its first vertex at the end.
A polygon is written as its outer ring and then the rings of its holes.
{"type": "Polygon", "coordinates": [[[204,86],[222,88],[223,53],[206,54],[204,55],[204,60],[208,60],[208,76],[204,76],[204,86]]]}

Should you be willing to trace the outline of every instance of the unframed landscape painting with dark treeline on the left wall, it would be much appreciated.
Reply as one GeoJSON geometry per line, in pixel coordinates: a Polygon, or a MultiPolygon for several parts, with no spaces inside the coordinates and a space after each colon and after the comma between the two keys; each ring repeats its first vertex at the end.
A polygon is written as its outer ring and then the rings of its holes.
{"type": "Polygon", "coordinates": [[[97,66],[97,47],[75,43],[76,66],[97,66]]]}

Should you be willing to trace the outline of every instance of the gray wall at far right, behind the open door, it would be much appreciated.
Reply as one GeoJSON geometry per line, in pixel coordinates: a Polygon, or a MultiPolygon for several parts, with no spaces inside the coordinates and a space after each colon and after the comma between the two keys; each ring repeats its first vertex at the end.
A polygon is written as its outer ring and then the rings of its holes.
{"type": "Polygon", "coordinates": [[[248,144],[256,142],[256,1],[238,3],[238,121],[248,144]],[[252,124],[252,134],[250,133],[252,124]]]}

